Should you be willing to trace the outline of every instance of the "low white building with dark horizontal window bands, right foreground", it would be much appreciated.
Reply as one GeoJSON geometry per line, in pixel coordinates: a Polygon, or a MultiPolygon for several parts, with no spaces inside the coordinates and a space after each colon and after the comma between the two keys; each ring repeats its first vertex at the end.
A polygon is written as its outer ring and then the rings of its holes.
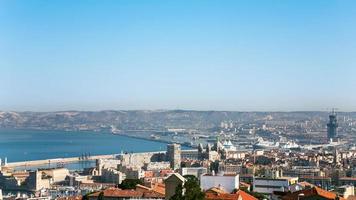
{"type": "Polygon", "coordinates": [[[253,191],[263,194],[272,194],[273,192],[287,192],[289,187],[298,182],[297,177],[282,178],[254,178],[253,191]]]}

